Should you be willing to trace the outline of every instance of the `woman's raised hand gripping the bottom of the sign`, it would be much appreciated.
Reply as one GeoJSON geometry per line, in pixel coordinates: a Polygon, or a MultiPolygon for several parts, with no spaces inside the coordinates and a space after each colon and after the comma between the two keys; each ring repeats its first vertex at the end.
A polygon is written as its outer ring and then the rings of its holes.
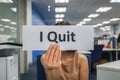
{"type": "Polygon", "coordinates": [[[61,49],[57,44],[50,45],[41,57],[45,69],[56,69],[61,65],[61,49]]]}

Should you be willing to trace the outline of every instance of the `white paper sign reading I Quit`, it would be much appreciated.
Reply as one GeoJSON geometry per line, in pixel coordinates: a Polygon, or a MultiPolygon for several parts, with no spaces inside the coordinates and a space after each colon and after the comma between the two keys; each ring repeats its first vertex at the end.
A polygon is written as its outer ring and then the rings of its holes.
{"type": "Polygon", "coordinates": [[[47,50],[57,43],[62,50],[93,50],[92,26],[24,26],[23,50],[47,50]]]}

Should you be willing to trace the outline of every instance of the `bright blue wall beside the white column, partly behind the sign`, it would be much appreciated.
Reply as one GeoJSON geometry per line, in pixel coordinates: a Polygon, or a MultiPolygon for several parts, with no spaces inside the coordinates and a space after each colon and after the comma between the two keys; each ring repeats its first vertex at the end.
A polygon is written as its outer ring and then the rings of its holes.
{"type": "MultiPolygon", "coordinates": [[[[32,4],[32,25],[45,25],[33,4],[32,4]]],[[[37,59],[37,55],[40,55],[43,52],[44,52],[43,50],[40,51],[33,50],[32,60],[35,61],[37,59]]]]}

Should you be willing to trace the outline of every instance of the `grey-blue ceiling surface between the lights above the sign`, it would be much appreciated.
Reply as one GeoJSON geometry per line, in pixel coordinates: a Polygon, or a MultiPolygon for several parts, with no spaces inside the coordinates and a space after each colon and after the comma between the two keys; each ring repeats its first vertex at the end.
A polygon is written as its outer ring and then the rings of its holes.
{"type": "MultiPolygon", "coordinates": [[[[110,3],[110,0],[69,0],[67,4],[55,4],[54,0],[32,0],[32,3],[43,18],[43,21],[48,25],[55,24],[55,7],[57,6],[67,7],[64,20],[69,21],[73,25],[78,24],[92,13],[98,13],[100,15],[92,18],[86,25],[96,25],[114,17],[120,18],[120,3],[110,3]],[[48,11],[48,5],[51,6],[50,12],[48,11]],[[104,13],[96,12],[100,7],[112,7],[112,9],[104,13]]],[[[111,22],[110,24],[116,23],[120,23],[120,20],[111,22]]]]}

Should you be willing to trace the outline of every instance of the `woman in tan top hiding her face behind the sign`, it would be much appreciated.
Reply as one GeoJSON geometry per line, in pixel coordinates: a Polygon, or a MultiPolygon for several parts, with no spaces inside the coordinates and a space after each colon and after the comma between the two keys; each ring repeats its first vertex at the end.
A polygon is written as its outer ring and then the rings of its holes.
{"type": "MultiPolygon", "coordinates": [[[[66,21],[56,25],[70,25],[66,21]]],[[[71,45],[72,46],[72,45],[71,45]]],[[[41,57],[47,80],[88,80],[87,58],[77,51],[61,51],[51,44],[41,57]]]]}

